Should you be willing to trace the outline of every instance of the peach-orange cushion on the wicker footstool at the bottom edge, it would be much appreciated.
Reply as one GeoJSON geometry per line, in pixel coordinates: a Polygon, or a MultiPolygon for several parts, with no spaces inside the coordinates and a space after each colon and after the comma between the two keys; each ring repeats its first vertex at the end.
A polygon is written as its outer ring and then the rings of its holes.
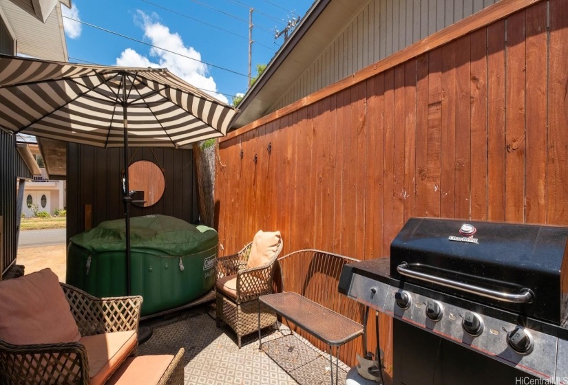
{"type": "Polygon", "coordinates": [[[168,369],[173,355],[140,355],[127,358],[110,377],[109,385],[156,385],[168,369]]]}

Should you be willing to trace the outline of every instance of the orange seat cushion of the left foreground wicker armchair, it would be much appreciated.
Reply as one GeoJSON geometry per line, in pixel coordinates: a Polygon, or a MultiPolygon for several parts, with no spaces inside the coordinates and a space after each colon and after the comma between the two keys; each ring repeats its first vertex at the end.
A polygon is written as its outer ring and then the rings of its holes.
{"type": "Polygon", "coordinates": [[[87,350],[90,384],[99,385],[104,384],[128,355],[136,349],[138,333],[136,331],[116,331],[83,337],[79,342],[87,350]]]}

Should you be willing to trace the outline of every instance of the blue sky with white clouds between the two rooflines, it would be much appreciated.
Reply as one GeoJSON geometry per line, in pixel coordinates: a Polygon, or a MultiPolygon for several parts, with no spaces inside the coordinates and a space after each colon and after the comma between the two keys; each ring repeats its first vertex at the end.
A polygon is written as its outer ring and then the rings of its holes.
{"type": "Polygon", "coordinates": [[[71,63],[167,67],[223,102],[246,92],[249,10],[252,75],[284,43],[288,20],[313,0],[72,0],[61,5],[71,63]],[[81,21],[78,23],[74,20],[81,21]],[[154,47],[153,47],[154,46],[154,47]]]}

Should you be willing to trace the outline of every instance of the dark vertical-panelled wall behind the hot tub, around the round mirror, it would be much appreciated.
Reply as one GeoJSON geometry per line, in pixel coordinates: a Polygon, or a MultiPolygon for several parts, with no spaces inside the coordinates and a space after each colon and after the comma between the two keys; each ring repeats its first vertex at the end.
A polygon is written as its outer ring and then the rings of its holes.
{"type": "MultiPolygon", "coordinates": [[[[129,148],[130,163],[149,160],[165,169],[165,191],[154,206],[132,206],[132,217],[170,215],[193,223],[199,218],[193,152],[166,148],[129,148]],[[153,150],[153,151],[152,151],[153,150]]],[[[120,180],[122,148],[67,144],[67,242],[85,231],[85,204],[92,205],[92,227],[124,218],[120,180]]]]}

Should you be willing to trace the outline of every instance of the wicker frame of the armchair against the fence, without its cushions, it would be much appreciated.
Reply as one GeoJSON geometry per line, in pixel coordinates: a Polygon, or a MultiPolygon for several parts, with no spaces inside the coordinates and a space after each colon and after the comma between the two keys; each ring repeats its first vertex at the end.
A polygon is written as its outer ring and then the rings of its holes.
{"type": "MultiPolygon", "coordinates": [[[[220,257],[215,263],[217,279],[236,276],[236,298],[216,285],[217,327],[225,322],[237,334],[238,347],[241,338],[258,330],[258,312],[260,327],[269,327],[276,322],[275,314],[262,306],[259,309],[258,297],[271,294],[273,289],[273,270],[276,259],[282,252],[283,243],[270,261],[260,267],[247,267],[253,243],[244,246],[237,254],[220,257]]],[[[218,281],[219,282],[219,281],[218,281]]]]}

